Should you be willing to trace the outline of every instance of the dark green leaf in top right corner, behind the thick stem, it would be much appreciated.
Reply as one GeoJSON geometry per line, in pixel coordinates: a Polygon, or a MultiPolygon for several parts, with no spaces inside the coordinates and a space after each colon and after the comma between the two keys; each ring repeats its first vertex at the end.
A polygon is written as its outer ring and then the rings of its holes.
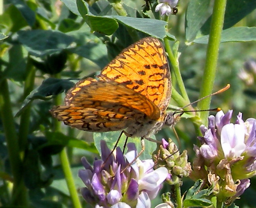
{"type": "MultiPolygon", "coordinates": [[[[250,14],[254,9],[256,9],[256,1],[252,0],[243,0],[243,1],[234,1],[227,0],[227,6],[225,11],[225,18],[223,29],[228,29],[238,23],[245,16],[250,14]]],[[[208,18],[205,24],[201,28],[202,34],[209,34],[210,31],[210,22],[212,16],[208,18]]]]}

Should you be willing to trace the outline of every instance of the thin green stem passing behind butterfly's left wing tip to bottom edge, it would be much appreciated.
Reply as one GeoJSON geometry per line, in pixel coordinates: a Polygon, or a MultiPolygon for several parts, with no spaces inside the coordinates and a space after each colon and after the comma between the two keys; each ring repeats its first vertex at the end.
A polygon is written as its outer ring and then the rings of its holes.
{"type": "MultiPolygon", "coordinates": [[[[60,74],[56,74],[55,78],[60,78],[60,74]]],[[[55,105],[61,105],[62,99],[61,95],[57,95],[55,97],[55,105]]],[[[54,118],[54,127],[56,132],[61,132],[61,123],[54,118]]],[[[69,194],[73,203],[73,207],[75,208],[82,208],[82,205],[79,201],[78,193],[75,187],[75,181],[72,176],[71,167],[68,160],[68,154],[66,152],[66,148],[63,148],[63,150],[60,152],[60,162],[62,165],[62,169],[65,175],[66,183],[68,186],[69,194]]]]}

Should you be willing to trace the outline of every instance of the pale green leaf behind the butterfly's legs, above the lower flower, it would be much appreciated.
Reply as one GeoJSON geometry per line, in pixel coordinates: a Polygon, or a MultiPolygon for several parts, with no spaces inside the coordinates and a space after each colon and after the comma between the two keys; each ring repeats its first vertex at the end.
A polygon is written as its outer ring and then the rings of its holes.
{"type": "MultiPolygon", "coordinates": [[[[118,139],[118,137],[120,136],[121,132],[120,131],[116,131],[116,132],[97,132],[93,134],[93,139],[94,139],[94,143],[95,146],[97,148],[97,150],[101,153],[101,146],[100,146],[100,141],[101,140],[105,140],[108,147],[110,148],[110,150],[113,149],[113,147],[115,146],[115,143],[118,139]]],[[[152,137],[152,139],[155,139],[155,136],[152,137]]],[[[119,140],[118,143],[118,147],[121,148],[121,150],[123,150],[124,147],[124,142],[126,140],[126,136],[124,134],[122,134],[121,139],[119,140]]],[[[141,138],[138,137],[128,137],[128,142],[133,142],[135,143],[135,146],[137,148],[137,152],[139,153],[141,151],[141,138]]],[[[143,159],[150,159],[152,158],[152,152],[154,152],[154,150],[156,149],[157,145],[155,142],[152,141],[148,141],[146,139],[144,139],[145,142],[145,150],[144,152],[141,154],[141,156],[139,157],[141,160],[143,159]]],[[[126,153],[126,151],[125,151],[126,153]]]]}

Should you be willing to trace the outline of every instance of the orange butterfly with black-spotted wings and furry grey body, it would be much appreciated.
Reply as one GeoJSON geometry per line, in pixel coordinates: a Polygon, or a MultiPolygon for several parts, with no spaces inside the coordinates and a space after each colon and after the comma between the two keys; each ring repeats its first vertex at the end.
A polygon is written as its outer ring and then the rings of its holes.
{"type": "Polygon", "coordinates": [[[124,130],[130,137],[149,138],[175,123],[166,113],[171,76],[163,44],[153,37],[133,43],[117,55],[97,79],[80,80],[68,90],[65,105],[53,117],[90,132],[124,130]]]}

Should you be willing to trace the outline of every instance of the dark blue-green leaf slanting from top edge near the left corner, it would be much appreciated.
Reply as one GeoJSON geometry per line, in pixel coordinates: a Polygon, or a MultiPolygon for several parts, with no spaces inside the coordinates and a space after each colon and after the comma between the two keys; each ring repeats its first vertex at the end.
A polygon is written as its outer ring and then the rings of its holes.
{"type": "Polygon", "coordinates": [[[22,16],[27,21],[31,27],[35,24],[36,15],[35,12],[29,8],[27,4],[25,4],[22,0],[11,0],[11,2],[15,5],[15,7],[20,11],[22,16]]]}

